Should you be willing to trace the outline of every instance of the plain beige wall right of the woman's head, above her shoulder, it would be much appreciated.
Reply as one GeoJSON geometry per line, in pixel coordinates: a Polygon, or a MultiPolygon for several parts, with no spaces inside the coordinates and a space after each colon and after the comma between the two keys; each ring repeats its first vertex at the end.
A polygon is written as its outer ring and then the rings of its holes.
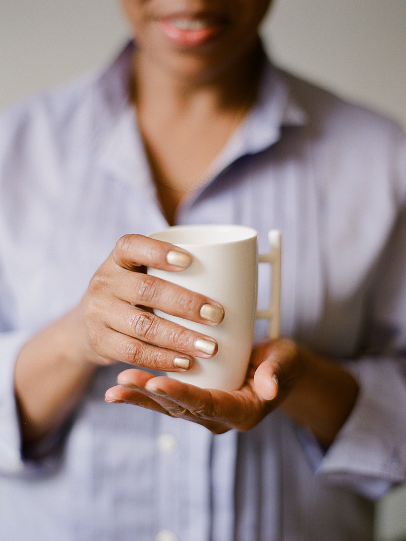
{"type": "Polygon", "coordinates": [[[405,0],[276,0],[265,30],[279,63],[406,126],[405,0]]]}

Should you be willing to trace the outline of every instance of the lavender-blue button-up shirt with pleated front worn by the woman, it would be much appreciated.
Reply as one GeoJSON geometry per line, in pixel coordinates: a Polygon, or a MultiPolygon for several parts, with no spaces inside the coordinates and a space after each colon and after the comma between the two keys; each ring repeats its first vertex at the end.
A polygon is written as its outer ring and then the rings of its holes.
{"type": "MultiPolygon", "coordinates": [[[[177,222],[254,227],[261,252],[281,230],[283,333],[346,362],[361,386],[335,442],[323,455],[279,411],[213,436],[107,404],[114,365],[47,457],[22,459],[19,348],[81,299],[121,235],[167,226],[128,100],[131,54],[0,121],[0,539],[370,540],[368,498],[406,473],[405,138],[271,65],[177,222]]],[[[259,307],[267,283],[261,269],[259,307]]]]}

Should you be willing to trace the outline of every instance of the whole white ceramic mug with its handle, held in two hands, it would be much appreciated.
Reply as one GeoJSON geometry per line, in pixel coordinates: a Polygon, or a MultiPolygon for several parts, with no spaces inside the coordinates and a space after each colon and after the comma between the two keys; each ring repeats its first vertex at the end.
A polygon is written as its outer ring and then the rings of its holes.
{"type": "Polygon", "coordinates": [[[162,318],[217,340],[218,352],[211,359],[194,358],[187,372],[169,376],[204,388],[234,391],[243,385],[252,349],[255,319],[269,318],[269,337],[279,334],[280,233],[269,232],[270,253],[258,256],[258,233],[238,225],[192,225],[169,227],[149,235],[184,248],[193,256],[181,272],[148,268],[148,274],[207,295],[224,307],[224,320],[208,327],[162,313],[162,318]],[[271,305],[257,312],[258,261],[272,265],[271,305]]]}

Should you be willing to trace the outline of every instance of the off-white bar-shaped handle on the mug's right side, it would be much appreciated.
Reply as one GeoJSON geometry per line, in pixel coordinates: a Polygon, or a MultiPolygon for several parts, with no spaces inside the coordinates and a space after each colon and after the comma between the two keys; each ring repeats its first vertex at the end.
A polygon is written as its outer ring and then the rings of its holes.
{"type": "Polygon", "coordinates": [[[268,338],[278,338],[280,329],[280,231],[268,233],[270,251],[258,256],[259,263],[271,263],[271,301],[265,310],[257,311],[257,318],[269,320],[268,338]]]}

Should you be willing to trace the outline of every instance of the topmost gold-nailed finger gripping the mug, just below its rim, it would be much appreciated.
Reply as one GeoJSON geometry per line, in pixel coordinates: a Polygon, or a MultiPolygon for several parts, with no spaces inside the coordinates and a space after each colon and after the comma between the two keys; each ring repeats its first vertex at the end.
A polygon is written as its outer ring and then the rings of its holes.
{"type": "Polygon", "coordinates": [[[144,265],[162,271],[183,271],[192,262],[186,250],[143,235],[122,236],[113,250],[113,259],[129,271],[144,265]]]}

